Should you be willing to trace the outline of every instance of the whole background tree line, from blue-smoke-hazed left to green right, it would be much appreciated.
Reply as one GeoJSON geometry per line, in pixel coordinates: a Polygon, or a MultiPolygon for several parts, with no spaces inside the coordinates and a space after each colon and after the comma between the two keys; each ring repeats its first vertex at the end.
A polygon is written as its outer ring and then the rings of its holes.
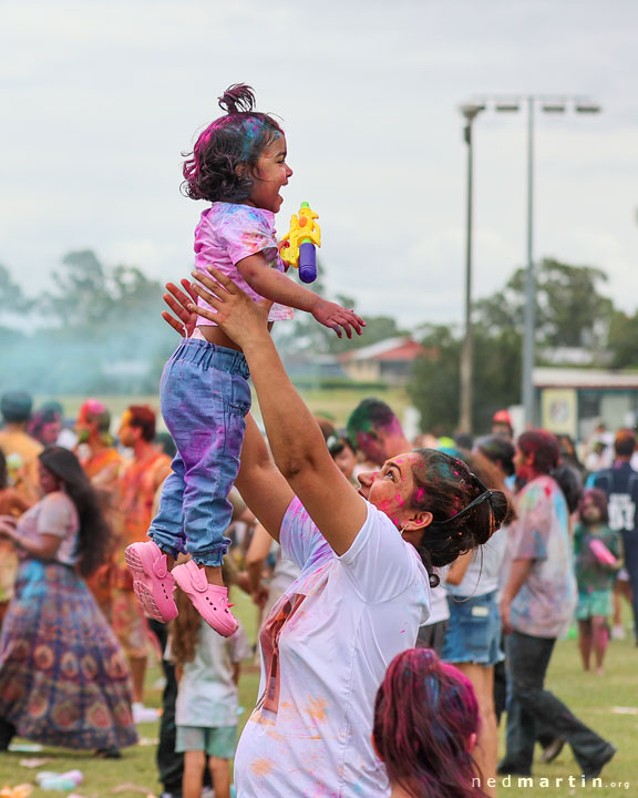
{"type": "MultiPolygon", "coordinates": [[[[638,313],[615,307],[603,289],[606,274],[591,266],[545,259],[537,267],[537,362],[559,347],[583,347],[591,365],[638,366],[638,313]]],[[[486,428],[494,410],[519,400],[525,272],[474,304],[473,423],[486,428]]],[[[326,296],[321,282],[316,289],[326,296]]],[[[0,265],[0,388],[34,393],[155,392],[176,345],[160,319],[163,285],[140,268],[105,265],[91,249],[71,252],[53,272],[53,287],[29,296],[0,265]],[[34,325],[32,325],[34,320],[34,325]],[[30,328],[34,326],[34,329],[30,328]]],[[[354,298],[335,297],[357,308],[354,298]]],[[[278,347],[333,354],[407,335],[390,316],[366,316],[363,336],[337,338],[307,314],[277,325],[278,347]]],[[[422,325],[413,337],[429,352],[416,362],[409,392],[424,429],[453,429],[459,418],[457,325],[422,325]]]]}

